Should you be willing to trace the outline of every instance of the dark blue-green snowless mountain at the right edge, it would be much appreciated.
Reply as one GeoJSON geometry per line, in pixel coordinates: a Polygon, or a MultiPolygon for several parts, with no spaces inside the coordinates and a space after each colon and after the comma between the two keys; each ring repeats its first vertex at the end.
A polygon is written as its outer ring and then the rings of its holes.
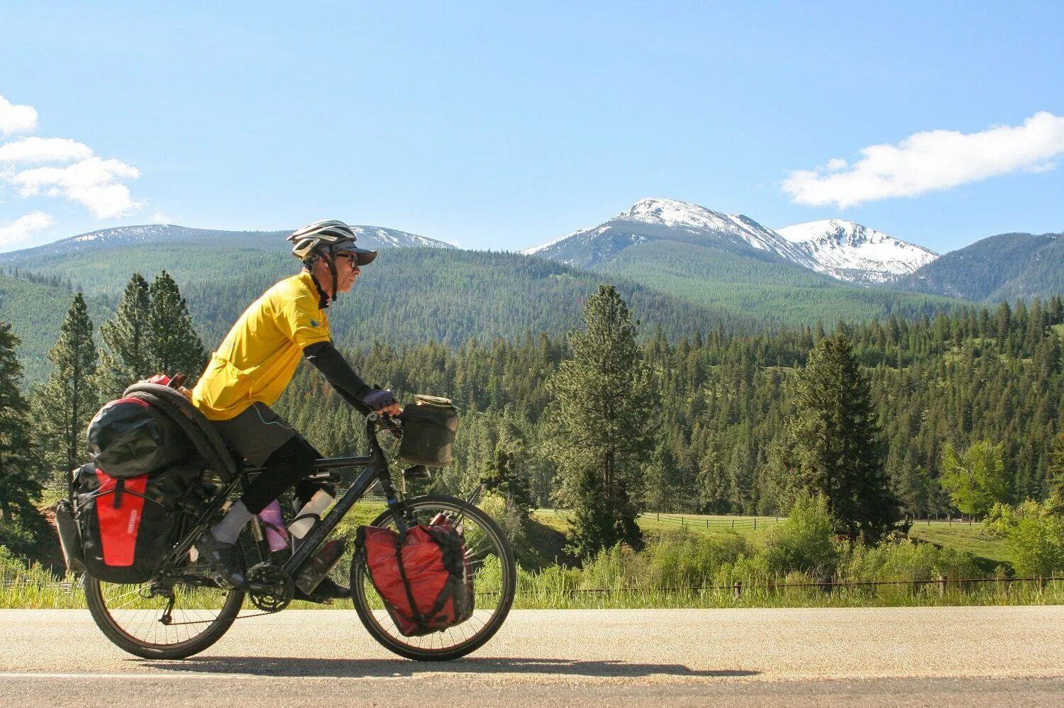
{"type": "Polygon", "coordinates": [[[998,234],[895,283],[915,292],[1001,301],[1064,292],[1064,234],[998,234]]]}

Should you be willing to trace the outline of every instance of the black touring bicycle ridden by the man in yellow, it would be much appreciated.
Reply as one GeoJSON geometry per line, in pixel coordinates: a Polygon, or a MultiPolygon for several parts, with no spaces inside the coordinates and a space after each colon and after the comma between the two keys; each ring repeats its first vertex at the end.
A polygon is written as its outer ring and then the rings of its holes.
{"type": "MultiPolygon", "coordinates": [[[[477,609],[461,624],[431,635],[404,637],[380,602],[366,572],[362,550],[356,547],[351,560],[351,599],[362,624],[384,647],[410,659],[450,660],[482,646],[502,625],[513,604],[517,577],[513,551],[491,517],[475,505],[479,490],[467,500],[444,495],[406,499],[397,491],[388,460],[377,439],[378,429],[401,434],[401,423],[372,414],[366,420],[369,455],[317,461],[313,479],[336,482],[338,470],[347,468],[362,472],[283,563],[271,559],[262,523],[257,517],[252,519],[251,545],[257,562],[250,564],[245,560],[247,590],[220,587],[210,573],[197,567],[192,553],[200,534],[220,518],[226,501],[262,469],[245,465],[231,481],[209,485],[201,498],[185,501],[173,545],[150,580],[119,585],[85,575],[85,596],[96,624],[117,646],[143,658],[181,659],[202,652],[232,626],[245,599],[261,610],[259,614],[285,609],[295,594],[294,578],[313,563],[314,553],[355,502],[380,484],[387,508],[371,525],[404,533],[415,524],[428,524],[437,515],[444,515],[454,528],[461,529],[477,609]]],[[[245,554],[248,555],[247,549],[245,554]]]]}

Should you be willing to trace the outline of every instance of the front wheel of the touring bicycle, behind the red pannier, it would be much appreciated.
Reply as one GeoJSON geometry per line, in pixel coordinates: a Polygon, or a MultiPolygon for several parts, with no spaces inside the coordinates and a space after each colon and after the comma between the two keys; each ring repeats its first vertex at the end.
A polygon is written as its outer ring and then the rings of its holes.
{"type": "Polygon", "coordinates": [[[469,620],[438,633],[421,637],[403,637],[383,608],[380,596],[365,572],[361,550],[351,562],[351,600],[363,626],[382,646],[408,659],[448,661],[473,652],[489,640],[502,626],[514,602],[517,569],[506,537],[484,511],[452,496],[428,495],[405,500],[394,510],[384,511],[373,520],[373,526],[395,527],[394,513],[413,515],[419,523],[428,523],[436,513],[448,513],[464,526],[468,546],[467,558],[473,574],[477,609],[469,620]],[[497,558],[498,560],[493,560],[497,558]],[[498,568],[498,578],[488,574],[498,568]],[[485,573],[486,569],[491,569],[485,573]],[[486,588],[498,588],[487,590],[486,588]],[[493,599],[488,606],[482,599],[493,599]]]}

